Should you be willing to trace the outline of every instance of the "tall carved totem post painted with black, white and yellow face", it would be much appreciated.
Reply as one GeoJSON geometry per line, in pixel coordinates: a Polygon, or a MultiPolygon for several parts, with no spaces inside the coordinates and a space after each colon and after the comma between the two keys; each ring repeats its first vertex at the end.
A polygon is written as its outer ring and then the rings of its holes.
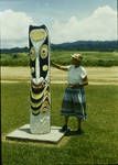
{"type": "Polygon", "coordinates": [[[29,28],[31,68],[30,130],[34,134],[51,131],[50,43],[45,25],[29,28]]]}

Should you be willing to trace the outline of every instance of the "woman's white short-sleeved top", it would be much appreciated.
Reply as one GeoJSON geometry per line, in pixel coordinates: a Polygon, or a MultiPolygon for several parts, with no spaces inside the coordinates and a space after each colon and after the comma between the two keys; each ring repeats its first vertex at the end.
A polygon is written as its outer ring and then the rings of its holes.
{"type": "Polygon", "coordinates": [[[68,66],[68,84],[83,84],[83,78],[87,76],[87,73],[83,66],[75,67],[75,65],[68,66]]]}

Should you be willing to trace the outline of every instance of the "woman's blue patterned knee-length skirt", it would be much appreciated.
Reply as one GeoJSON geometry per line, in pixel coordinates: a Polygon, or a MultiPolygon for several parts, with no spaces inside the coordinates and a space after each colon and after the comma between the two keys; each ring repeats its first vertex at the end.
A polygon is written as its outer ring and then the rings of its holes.
{"type": "Polygon", "coordinates": [[[84,87],[65,89],[62,110],[63,116],[75,116],[79,119],[86,119],[86,98],[84,87]]]}

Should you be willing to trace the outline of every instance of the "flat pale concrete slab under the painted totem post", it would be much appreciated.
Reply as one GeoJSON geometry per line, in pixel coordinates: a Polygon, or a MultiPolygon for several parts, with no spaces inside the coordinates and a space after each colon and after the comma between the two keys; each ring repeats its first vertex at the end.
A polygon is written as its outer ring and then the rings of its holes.
{"type": "Polygon", "coordinates": [[[7,140],[57,143],[64,136],[64,133],[60,132],[60,127],[51,127],[50,133],[32,134],[30,132],[30,124],[25,124],[9,133],[6,138],[7,140]]]}

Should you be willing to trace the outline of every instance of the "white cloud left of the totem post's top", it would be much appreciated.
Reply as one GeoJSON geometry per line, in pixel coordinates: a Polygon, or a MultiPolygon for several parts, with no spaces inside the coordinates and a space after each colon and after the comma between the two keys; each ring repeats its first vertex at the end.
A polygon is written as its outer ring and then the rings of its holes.
{"type": "Polygon", "coordinates": [[[32,18],[24,12],[4,10],[0,12],[1,47],[26,46],[29,24],[32,18]]]}

